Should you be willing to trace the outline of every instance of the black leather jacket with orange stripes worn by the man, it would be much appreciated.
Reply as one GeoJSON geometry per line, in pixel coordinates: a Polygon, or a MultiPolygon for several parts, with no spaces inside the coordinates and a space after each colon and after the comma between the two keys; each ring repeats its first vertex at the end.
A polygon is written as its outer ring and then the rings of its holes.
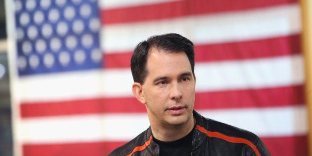
{"type": "MultiPolygon", "coordinates": [[[[270,156],[255,134],[207,119],[193,111],[196,126],[191,156],[270,156]]],[[[153,141],[151,127],[117,148],[109,156],[159,156],[159,146],[153,141]]]]}

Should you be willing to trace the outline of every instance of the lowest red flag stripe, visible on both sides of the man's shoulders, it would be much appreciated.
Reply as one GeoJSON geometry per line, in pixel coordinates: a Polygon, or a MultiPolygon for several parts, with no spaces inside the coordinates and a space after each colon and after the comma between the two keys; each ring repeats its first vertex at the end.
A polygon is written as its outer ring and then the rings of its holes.
{"type": "MultiPolygon", "coordinates": [[[[272,156],[308,156],[307,136],[261,137],[272,156]]],[[[124,142],[24,144],[23,156],[107,156],[124,142]]]]}

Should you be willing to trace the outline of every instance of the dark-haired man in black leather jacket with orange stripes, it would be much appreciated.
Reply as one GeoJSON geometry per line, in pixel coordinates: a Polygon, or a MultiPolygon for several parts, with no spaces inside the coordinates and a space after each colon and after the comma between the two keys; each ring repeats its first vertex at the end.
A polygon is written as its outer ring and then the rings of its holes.
{"type": "Polygon", "coordinates": [[[179,34],[153,36],[137,45],[132,92],[145,104],[151,126],[111,156],[270,155],[253,133],[193,110],[194,64],[194,45],[179,34]]]}

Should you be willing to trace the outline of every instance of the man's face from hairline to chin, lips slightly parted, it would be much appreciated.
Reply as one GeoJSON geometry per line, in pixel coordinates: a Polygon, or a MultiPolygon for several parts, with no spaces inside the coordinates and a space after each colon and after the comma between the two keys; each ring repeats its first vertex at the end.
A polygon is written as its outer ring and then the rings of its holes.
{"type": "Polygon", "coordinates": [[[158,52],[153,48],[147,70],[142,94],[151,124],[177,126],[190,122],[195,78],[186,54],[158,52]]]}

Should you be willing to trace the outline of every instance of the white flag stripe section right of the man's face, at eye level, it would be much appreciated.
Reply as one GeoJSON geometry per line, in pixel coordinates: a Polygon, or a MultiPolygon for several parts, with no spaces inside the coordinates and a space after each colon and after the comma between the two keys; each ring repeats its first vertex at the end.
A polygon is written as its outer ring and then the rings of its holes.
{"type": "Polygon", "coordinates": [[[195,65],[196,91],[263,88],[304,82],[301,55],[195,65]]]}

